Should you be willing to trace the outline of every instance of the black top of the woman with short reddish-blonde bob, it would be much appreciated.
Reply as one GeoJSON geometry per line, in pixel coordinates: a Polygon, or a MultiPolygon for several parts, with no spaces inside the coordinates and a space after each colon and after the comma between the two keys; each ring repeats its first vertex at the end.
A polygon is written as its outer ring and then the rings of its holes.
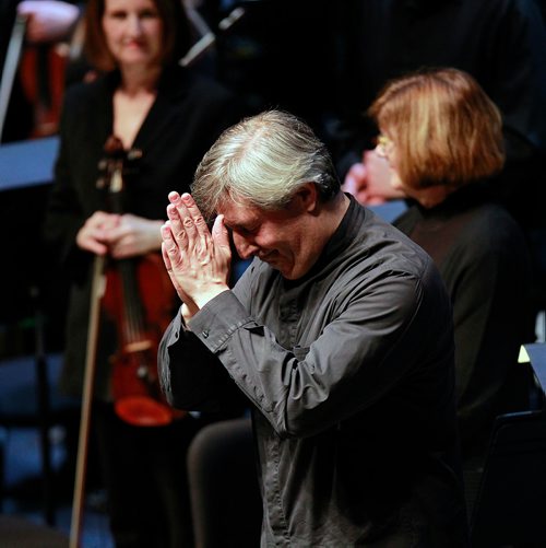
{"type": "MultiPolygon", "coordinates": [[[[482,451],[529,325],[529,252],[521,229],[484,183],[435,208],[414,205],[394,225],[438,266],[453,303],[463,456],[482,451]]],[[[514,388],[514,387],[512,387],[514,388]]]]}

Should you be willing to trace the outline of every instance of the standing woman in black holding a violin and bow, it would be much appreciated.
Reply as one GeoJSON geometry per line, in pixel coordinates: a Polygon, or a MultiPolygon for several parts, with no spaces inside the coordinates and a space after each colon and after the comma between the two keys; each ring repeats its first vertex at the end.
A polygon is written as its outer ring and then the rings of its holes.
{"type": "MultiPolygon", "coordinates": [[[[228,91],[179,66],[190,46],[179,0],[90,0],[85,16],[85,51],[98,75],[67,92],[45,222],[51,254],[70,276],[61,387],[76,396],[94,258],[116,265],[158,252],[168,191],[189,189],[204,152],[239,114],[228,91]],[[97,188],[111,137],[117,159],[124,158],[122,208],[115,212],[97,188]]],[[[212,418],[186,416],[153,428],[122,420],[115,412],[111,365],[123,351],[119,333],[119,320],[103,314],[92,415],[116,546],[191,546],[186,450],[212,418]]]]}

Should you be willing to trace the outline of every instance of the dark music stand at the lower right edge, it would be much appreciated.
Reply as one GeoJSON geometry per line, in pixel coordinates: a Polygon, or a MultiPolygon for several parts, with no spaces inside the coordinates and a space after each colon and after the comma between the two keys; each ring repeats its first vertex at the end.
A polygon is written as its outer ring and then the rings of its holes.
{"type": "Polygon", "coordinates": [[[546,543],[546,345],[525,349],[542,406],[496,419],[471,521],[475,548],[546,543]]]}

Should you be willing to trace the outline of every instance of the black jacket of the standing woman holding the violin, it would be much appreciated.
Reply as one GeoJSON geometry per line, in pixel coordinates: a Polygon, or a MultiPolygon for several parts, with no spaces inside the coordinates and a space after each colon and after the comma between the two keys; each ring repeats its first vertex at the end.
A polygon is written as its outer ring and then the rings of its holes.
{"type": "MultiPolygon", "coordinates": [[[[97,189],[102,174],[98,165],[112,132],[112,94],[118,81],[119,74],[114,72],[68,91],[45,221],[50,254],[70,278],[62,387],[73,395],[82,387],[93,263],[92,254],[76,247],[75,235],[93,212],[108,208],[104,193],[97,189]]],[[[133,143],[142,158],[128,164],[124,212],[166,219],[168,193],[189,189],[203,154],[223,129],[237,121],[237,116],[234,96],[224,88],[178,67],[166,69],[133,143]]],[[[117,346],[112,329],[112,325],[103,325],[98,348],[95,386],[103,398],[109,396],[107,358],[117,346]]]]}

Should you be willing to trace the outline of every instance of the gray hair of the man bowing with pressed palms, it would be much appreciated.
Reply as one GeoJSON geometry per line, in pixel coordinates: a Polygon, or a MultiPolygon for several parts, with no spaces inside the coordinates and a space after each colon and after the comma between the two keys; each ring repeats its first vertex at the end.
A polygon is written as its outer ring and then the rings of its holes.
{"type": "Polygon", "coordinates": [[[191,194],[203,217],[211,219],[226,199],[282,209],[310,182],[323,201],[340,190],[325,145],[296,116],[268,110],[221,135],[199,164],[191,194]]]}

